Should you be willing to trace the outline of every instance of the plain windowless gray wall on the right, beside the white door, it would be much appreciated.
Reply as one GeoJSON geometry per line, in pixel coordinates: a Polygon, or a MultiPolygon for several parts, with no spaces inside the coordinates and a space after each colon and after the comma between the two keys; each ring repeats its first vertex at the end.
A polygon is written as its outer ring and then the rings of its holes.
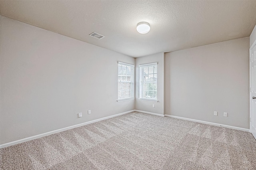
{"type": "Polygon", "coordinates": [[[164,67],[165,114],[249,128],[249,37],[165,53],[164,67]]]}

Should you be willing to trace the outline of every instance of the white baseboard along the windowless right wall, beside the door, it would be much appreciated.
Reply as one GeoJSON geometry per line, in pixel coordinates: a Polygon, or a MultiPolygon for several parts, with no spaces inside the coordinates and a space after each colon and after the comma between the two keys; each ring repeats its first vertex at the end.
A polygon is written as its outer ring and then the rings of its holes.
{"type": "Polygon", "coordinates": [[[189,119],[189,118],[185,118],[185,117],[178,117],[178,116],[172,116],[172,115],[164,115],[164,116],[165,116],[165,117],[172,117],[172,118],[176,118],[176,119],[183,119],[183,120],[186,120],[186,121],[204,123],[204,124],[207,124],[207,125],[214,125],[214,126],[218,126],[218,127],[232,128],[232,129],[242,130],[242,131],[246,131],[246,132],[249,132],[249,131],[250,131],[250,129],[247,129],[247,128],[233,127],[233,126],[222,125],[222,124],[218,124],[218,123],[212,123],[212,122],[206,122],[206,121],[199,121],[199,120],[196,120],[196,119],[189,119]]]}

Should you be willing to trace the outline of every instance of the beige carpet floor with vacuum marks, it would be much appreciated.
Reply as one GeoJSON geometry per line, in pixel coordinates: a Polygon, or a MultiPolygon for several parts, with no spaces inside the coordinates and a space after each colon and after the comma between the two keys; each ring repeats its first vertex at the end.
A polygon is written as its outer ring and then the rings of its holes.
{"type": "Polygon", "coordinates": [[[256,170],[249,132],[128,113],[0,150],[2,170],[256,170]]]}

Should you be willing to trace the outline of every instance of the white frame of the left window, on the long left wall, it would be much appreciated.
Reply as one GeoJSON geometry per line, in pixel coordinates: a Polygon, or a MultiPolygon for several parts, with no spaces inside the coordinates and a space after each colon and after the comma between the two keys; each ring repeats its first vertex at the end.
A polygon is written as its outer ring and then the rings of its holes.
{"type": "MultiPolygon", "coordinates": [[[[132,64],[128,64],[128,63],[122,63],[122,62],[118,62],[118,83],[131,83],[131,97],[126,97],[126,98],[120,98],[119,99],[119,95],[117,95],[117,98],[118,98],[118,102],[120,101],[128,101],[128,100],[134,100],[134,65],[132,64]],[[122,81],[122,79],[119,80],[119,76],[123,76],[123,75],[120,75],[119,74],[119,67],[122,66],[125,66],[125,67],[130,67],[130,70],[132,71],[131,73],[131,78],[130,78],[130,81],[122,81]]],[[[127,86],[126,86],[127,87],[127,86]]],[[[119,94],[119,85],[118,85],[118,94],[119,94]]]]}

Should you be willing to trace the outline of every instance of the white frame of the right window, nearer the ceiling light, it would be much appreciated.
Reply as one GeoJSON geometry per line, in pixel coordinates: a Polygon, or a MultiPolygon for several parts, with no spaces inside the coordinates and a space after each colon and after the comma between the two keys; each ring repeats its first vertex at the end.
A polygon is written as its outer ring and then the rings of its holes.
{"type": "MultiPolygon", "coordinates": [[[[148,63],[148,64],[141,64],[139,65],[139,71],[140,71],[140,87],[139,87],[139,92],[140,92],[140,98],[139,100],[142,100],[142,101],[152,101],[152,102],[158,102],[157,100],[157,95],[158,95],[158,90],[157,90],[157,72],[158,72],[158,69],[157,69],[157,64],[158,63],[148,63]],[[144,73],[142,73],[142,70],[146,69],[146,68],[149,68],[149,67],[156,67],[156,73],[155,73],[155,69],[153,69],[153,79],[152,81],[144,81],[144,73]],[[155,77],[156,76],[156,77],[155,77]],[[145,83],[150,83],[152,84],[152,93],[154,94],[154,85],[156,85],[156,98],[149,98],[149,97],[144,97],[145,95],[145,83]]],[[[154,95],[153,95],[154,96],[154,95]]]]}

